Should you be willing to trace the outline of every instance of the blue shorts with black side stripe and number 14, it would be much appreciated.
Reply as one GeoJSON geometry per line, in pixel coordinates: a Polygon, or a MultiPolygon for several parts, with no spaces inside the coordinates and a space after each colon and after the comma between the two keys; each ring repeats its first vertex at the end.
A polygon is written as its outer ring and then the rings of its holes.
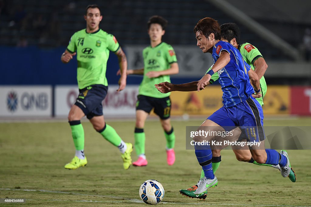
{"type": "Polygon", "coordinates": [[[265,139],[262,107],[253,97],[235,106],[228,108],[223,106],[207,119],[226,131],[239,127],[242,131],[239,140],[263,141],[265,139]]]}

